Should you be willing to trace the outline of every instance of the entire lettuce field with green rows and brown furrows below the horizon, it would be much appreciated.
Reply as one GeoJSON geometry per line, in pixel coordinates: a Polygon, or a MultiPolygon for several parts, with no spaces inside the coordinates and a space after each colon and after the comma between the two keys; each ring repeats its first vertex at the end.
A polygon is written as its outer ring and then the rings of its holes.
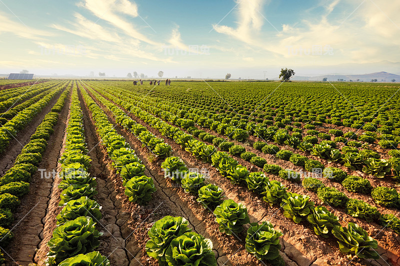
{"type": "Polygon", "coordinates": [[[397,83],[0,82],[6,266],[400,266],[397,83]]]}

